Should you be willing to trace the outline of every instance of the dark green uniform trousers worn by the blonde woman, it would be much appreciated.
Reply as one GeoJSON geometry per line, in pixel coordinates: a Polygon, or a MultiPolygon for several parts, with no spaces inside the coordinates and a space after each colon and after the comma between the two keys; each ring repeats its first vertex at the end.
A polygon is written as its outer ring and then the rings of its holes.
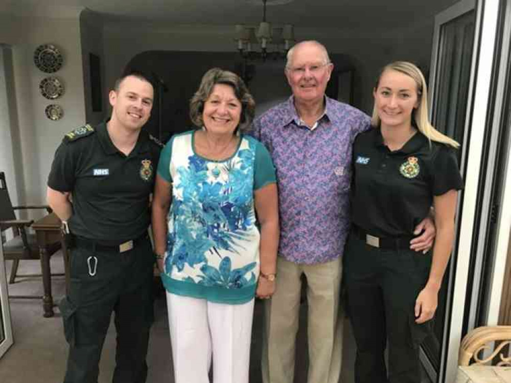
{"type": "Polygon", "coordinates": [[[419,346],[431,324],[416,324],[414,307],[430,265],[430,253],[383,250],[350,235],[343,280],[346,311],[357,344],[356,383],[421,382],[419,346]]]}

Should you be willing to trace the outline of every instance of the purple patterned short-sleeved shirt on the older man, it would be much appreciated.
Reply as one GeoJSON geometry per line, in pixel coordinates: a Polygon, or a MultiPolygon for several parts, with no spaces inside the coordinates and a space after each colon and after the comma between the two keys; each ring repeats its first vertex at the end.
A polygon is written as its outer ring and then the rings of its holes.
{"type": "Polygon", "coordinates": [[[303,123],[293,96],[253,123],[277,174],[281,238],[278,254],[296,263],[342,255],[350,228],[352,145],[370,126],[360,110],[326,97],[314,129],[303,123]]]}

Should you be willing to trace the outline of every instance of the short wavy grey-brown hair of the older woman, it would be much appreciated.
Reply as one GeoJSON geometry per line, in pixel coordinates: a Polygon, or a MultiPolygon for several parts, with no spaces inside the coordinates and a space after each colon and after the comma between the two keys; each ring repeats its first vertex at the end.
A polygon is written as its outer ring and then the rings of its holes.
{"type": "Polygon", "coordinates": [[[204,124],[202,120],[204,103],[211,96],[216,84],[229,85],[233,88],[236,98],[241,102],[241,117],[238,129],[242,132],[249,130],[255,116],[255,101],[243,80],[236,73],[224,71],[220,68],[212,68],[202,76],[199,89],[190,100],[190,119],[194,125],[200,128],[204,124]]]}

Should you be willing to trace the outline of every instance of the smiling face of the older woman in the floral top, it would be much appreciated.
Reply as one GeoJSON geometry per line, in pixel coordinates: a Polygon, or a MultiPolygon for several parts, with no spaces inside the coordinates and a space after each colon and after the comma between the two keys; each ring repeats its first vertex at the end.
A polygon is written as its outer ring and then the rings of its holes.
{"type": "Polygon", "coordinates": [[[242,105],[233,87],[216,84],[204,102],[202,120],[206,130],[214,134],[234,134],[240,123],[242,105]]]}

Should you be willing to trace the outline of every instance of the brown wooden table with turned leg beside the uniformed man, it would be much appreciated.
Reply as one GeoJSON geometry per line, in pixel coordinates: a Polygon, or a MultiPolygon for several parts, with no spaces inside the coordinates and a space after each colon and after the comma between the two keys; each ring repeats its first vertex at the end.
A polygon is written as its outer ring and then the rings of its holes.
{"type": "Polygon", "coordinates": [[[37,245],[39,246],[39,256],[41,259],[41,272],[42,272],[42,286],[43,297],[42,307],[44,310],[43,316],[50,318],[54,316],[53,312],[53,297],[52,297],[52,274],[50,269],[50,254],[48,253],[48,245],[60,242],[62,246],[62,254],[64,257],[65,268],[65,286],[66,292],[69,285],[69,273],[67,262],[67,249],[64,238],[60,231],[60,219],[55,213],[51,213],[38,221],[34,222],[31,226],[35,231],[37,238],[37,245]]]}

